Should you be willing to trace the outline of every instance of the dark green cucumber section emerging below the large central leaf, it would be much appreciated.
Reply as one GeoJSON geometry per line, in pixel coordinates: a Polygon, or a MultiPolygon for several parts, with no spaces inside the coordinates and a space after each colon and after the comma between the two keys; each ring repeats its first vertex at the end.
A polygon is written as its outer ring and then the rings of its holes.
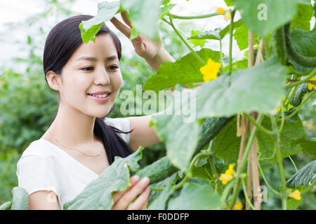
{"type": "Polygon", "coordinates": [[[231,116],[230,118],[206,118],[199,131],[199,141],[197,142],[197,148],[195,148],[195,155],[209,144],[209,142],[216,137],[220,130],[222,130],[232,118],[234,118],[234,116],[231,116]]]}

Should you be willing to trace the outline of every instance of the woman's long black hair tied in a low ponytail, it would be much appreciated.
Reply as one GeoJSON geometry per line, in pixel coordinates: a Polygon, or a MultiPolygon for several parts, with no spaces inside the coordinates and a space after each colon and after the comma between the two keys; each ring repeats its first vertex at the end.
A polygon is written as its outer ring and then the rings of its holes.
{"type": "MultiPolygon", "coordinates": [[[[43,66],[45,80],[46,73],[48,71],[54,71],[56,74],[61,75],[62,67],[65,66],[68,59],[72,56],[75,50],[83,43],[81,39],[79,24],[82,20],[89,20],[93,18],[91,15],[75,15],[71,18],[67,18],[59,22],[51,31],[49,32],[45,47],[44,47],[44,56],[43,56],[43,66]]],[[[106,25],[103,23],[98,34],[110,34],[114,41],[115,48],[117,48],[117,56],[121,59],[121,42],[116,34],[114,34],[106,25]]],[[[58,92],[58,99],[60,100],[60,95],[58,92]]],[[[115,127],[108,126],[105,123],[105,117],[107,117],[114,107],[110,109],[110,112],[107,113],[103,118],[96,118],[94,123],[93,132],[96,134],[96,137],[103,141],[105,146],[105,151],[107,153],[107,159],[109,160],[110,165],[114,162],[114,157],[119,156],[125,158],[126,156],[133,153],[133,149],[129,144],[126,143],[117,133],[128,134],[129,132],[123,132],[118,130],[115,127]]],[[[57,114],[53,118],[55,120],[57,114]]],[[[53,123],[51,120],[51,123],[53,123]]],[[[51,126],[51,124],[49,125],[51,126]]]]}

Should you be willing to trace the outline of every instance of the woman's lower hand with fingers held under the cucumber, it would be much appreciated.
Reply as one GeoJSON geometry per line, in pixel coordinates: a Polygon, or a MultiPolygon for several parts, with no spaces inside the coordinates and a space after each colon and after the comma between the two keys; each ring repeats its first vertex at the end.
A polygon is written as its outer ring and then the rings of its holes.
{"type": "Polygon", "coordinates": [[[114,200],[112,210],[146,209],[148,196],[150,195],[150,188],[148,187],[150,180],[147,177],[139,180],[138,176],[132,176],[130,182],[131,186],[112,195],[114,200]],[[129,204],[131,204],[131,202],[135,199],[137,195],[139,195],[137,200],[133,202],[131,207],[129,207],[129,204]]]}

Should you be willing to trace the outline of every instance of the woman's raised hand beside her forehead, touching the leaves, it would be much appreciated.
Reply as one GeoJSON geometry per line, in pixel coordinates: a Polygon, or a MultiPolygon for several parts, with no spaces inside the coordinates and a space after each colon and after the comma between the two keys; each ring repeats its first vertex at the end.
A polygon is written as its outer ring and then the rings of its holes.
{"type": "MultiPolygon", "coordinates": [[[[129,27],[121,23],[115,17],[112,18],[110,21],[115,27],[117,27],[117,29],[119,29],[119,31],[121,31],[125,36],[130,38],[132,26],[125,11],[121,13],[121,18],[129,27]]],[[[154,57],[157,56],[159,52],[163,50],[161,43],[157,43],[156,41],[153,41],[152,39],[147,38],[146,36],[143,36],[141,34],[139,34],[131,42],[133,43],[135,52],[140,57],[143,57],[144,59],[149,61],[154,59],[154,57]]]]}

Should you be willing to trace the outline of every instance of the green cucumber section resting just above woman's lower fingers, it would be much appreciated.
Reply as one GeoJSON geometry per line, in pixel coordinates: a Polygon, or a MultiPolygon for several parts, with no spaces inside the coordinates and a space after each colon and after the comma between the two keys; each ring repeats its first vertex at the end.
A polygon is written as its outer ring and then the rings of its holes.
{"type": "Polygon", "coordinates": [[[138,175],[140,179],[147,176],[150,179],[150,183],[157,183],[171,176],[176,171],[178,169],[171,164],[167,156],[164,156],[156,162],[152,162],[151,165],[140,169],[135,175],[138,175]]]}

